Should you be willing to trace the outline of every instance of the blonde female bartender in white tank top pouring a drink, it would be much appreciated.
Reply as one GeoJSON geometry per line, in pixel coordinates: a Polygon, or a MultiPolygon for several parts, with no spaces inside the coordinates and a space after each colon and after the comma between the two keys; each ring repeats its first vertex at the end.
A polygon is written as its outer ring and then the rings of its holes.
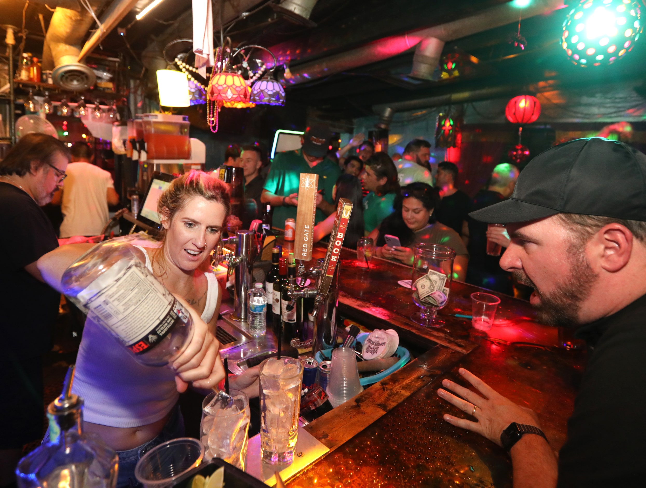
{"type": "MultiPolygon", "coordinates": [[[[118,488],[137,485],[134,467],[146,451],[183,435],[178,392],[188,383],[210,389],[224,378],[213,335],[222,297],[215,275],[204,270],[230,211],[225,185],[191,171],[160,196],[159,242],[134,246],[163,286],[191,310],[193,339],[171,368],[141,365],[101,326],[85,323],[73,391],[85,400],[85,429],[119,454],[118,488]]],[[[90,247],[71,244],[41,257],[38,268],[45,281],[60,291],[63,271],[90,247]]],[[[257,376],[257,369],[249,370],[232,379],[232,387],[255,396],[257,376]]]]}

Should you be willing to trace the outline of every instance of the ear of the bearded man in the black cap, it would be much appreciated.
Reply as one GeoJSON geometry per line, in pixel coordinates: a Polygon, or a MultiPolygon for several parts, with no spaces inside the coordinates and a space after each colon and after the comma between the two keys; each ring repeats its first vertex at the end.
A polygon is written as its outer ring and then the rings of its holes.
{"type": "Polygon", "coordinates": [[[592,259],[598,260],[599,265],[609,273],[621,271],[632,255],[634,237],[625,226],[613,222],[592,236],[587,244],[592,259]]]}

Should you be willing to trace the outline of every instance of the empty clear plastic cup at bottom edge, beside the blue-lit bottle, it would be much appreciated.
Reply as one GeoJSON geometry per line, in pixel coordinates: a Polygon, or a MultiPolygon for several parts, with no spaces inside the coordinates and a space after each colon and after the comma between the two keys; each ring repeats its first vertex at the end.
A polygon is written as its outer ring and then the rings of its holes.
{"type": "Polygon", "coordinates": [[[171,486],[185,472],[197,467],[204,457],[204,446],[197,439],[180,437],[154,447],[141,458],[134,476],[146,488],[171,486]]]}

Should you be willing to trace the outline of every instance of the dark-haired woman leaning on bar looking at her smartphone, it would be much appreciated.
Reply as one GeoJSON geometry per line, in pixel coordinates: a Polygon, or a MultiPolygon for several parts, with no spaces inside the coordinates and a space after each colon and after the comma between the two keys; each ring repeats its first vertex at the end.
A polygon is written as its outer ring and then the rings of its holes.
{"type": "Polygon", "coordinates": [[[384,218],[373,236],[377,237],[377,256],[399,260],[411,266],[415,246],[440,244],[455,250],[453,277],[464,281],[469,253],[463,240],[450,229],[432,218],[439,196],[426,183],[412,183],[402,187],[395,198],[395,212],[384,218]],[[388,238],[388,240],[386,240],[388,238]],[[399,242],[398,242],[399,241],[399,242]],[[390,242],[390,244],[389,244],[390,242]]]}

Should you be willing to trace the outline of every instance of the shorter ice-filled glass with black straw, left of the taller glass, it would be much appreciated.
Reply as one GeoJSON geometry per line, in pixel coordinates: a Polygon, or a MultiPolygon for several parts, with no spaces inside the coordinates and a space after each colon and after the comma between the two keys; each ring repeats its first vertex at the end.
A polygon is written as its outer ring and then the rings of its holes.
{"type": "Polygon", "coordinates": [[[231,399],[222,393],[213,392],[202,402],[200,441],[204,459],[220,458],[244,470],[251,420],[249,398],[238,390],[229,390],[231,399]]]}

